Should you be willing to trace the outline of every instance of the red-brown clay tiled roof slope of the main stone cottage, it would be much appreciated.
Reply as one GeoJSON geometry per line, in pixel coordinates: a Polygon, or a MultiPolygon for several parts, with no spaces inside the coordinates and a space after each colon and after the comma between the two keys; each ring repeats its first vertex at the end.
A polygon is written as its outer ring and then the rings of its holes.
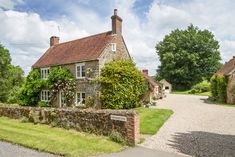
{"type": "Polygon", "coordinates": [[[107,43],[113,39],[111,31],[92,35],[50,47],[33,68],[96,60],[107,43]]]}

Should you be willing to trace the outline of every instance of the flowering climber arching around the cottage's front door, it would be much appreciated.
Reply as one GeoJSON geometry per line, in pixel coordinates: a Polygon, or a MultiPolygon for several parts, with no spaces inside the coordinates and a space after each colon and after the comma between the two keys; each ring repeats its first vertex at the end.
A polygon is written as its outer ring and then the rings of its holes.
{"type": "Polygon", "coordinates": [[[68,69],[64,67],[51,69],[48,76],[48,86],[50,89],[50,104],[57,98],[58,93],[63,91],[66,105],[72,105],[72,101],[75,98],[76,82],[68,69]]]}

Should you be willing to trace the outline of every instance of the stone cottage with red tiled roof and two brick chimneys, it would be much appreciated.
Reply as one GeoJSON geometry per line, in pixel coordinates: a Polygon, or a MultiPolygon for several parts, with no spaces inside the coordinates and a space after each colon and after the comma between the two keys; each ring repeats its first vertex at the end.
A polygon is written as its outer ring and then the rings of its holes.
{"type": "MultiPolygon", "coordinates": [[[[106,63],[114,59],[131,59],[122,36],[122,19],[117,15],[117,9],[114,9],[111,21],[111,31],[81,39],[59,43],[59,37],[52,36],[50,48],[32,68],[40,69],[41,78],[47,79],[50,68],[66,67],[76,79],[74,104],[84,105],[86,97],[89,96],[93,97],[95,104],[98,105],[99,90],[94,84],[89,83],[89,80],[99,76],[101,68],[106,63]]],[[[41,101],[48,102],[49,93],[47,89],[42,90],[41,101]]],[[[64,100],[64,93],[60,91],[52,104],[54,107],[64,107],[64,100]]]]}

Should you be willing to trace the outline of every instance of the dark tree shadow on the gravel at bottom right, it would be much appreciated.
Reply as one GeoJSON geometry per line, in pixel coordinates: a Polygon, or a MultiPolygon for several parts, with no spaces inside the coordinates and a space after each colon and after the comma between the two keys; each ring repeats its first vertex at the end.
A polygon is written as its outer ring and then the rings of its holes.
{"type": "Polygon", "coordinates": [[[176,133],[170,142],[174,149],[195,157],[235,157],[235,135],[192,131],[176,133]]]}

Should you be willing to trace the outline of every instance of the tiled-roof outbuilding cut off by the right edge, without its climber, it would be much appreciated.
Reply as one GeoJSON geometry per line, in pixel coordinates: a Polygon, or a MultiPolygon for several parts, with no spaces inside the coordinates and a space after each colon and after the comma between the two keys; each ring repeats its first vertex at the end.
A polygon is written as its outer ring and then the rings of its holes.
{"type": "Polygon", "coordinates": [[[227,82],[227,103],[235,103],[235,56],[222,66],[215,75],[223,75],[228,78],[227,82]]]}

